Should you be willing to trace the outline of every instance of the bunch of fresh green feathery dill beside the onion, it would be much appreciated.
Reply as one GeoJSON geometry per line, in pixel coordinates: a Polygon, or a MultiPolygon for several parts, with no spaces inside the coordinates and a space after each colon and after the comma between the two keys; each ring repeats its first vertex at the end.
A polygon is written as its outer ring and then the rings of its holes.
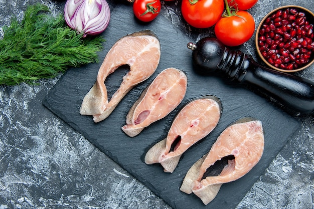
{"type": "Polygon", "coordinates": [[[49,15],[42,4],[28,6],[24,18],[4,27],[0,40],[0,85],[53,78],[69,67],[98,62],[102,37],[86,37],[68,27],[63,15],[49,15]]]}

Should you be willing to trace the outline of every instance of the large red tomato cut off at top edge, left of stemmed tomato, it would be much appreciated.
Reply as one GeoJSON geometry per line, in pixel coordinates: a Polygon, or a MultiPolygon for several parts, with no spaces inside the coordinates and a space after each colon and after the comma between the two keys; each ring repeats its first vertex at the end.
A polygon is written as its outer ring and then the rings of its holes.
{"type": "Polygon", "coordinates": [[[209,28],[217,23],[224,6],[223,0],[182,0],[181,13],[191,26],[209,28]]]}

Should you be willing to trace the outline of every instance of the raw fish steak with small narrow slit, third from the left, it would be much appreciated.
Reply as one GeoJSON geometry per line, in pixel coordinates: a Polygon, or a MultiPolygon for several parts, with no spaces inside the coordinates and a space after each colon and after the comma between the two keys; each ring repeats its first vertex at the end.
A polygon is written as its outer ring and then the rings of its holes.
{"type": "Polygon", "coordinates": [[[175,117],[167,138],[156,143],[145,155],[145,163],[161,163],[165,172],[173,172],[181,155],[217,126],[221,103],[215,96],[203,96],[188,102],[175,117]]]}

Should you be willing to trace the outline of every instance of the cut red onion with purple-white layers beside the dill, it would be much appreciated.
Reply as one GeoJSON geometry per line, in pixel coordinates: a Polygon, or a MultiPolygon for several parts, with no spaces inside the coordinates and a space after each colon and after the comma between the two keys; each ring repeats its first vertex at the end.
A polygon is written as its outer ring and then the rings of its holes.
{"type": "Polygon", "coordinates": [[[110,8],[106,0],[68,0],[64,18],[72,29],[87,35],[98,35],[108,26],[110,8]]]}

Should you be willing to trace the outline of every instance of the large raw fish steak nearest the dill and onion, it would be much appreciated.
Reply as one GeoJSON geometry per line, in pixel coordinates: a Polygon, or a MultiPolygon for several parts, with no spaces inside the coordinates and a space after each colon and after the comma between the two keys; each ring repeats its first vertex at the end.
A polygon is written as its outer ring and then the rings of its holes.
{"type": "Polygon", "coordinates": [[[135,85],[155,72],[160,56],[160,42],[149,30],[135,32],[118,40],[100,66],[95,84],[85,95],[80,114],[93,115],[94,122],[107,118],[135,85]],[[123,76],[120,87],[108,102],[104,81],[122,65],[129,65],[130,71],[123,76]]]}

